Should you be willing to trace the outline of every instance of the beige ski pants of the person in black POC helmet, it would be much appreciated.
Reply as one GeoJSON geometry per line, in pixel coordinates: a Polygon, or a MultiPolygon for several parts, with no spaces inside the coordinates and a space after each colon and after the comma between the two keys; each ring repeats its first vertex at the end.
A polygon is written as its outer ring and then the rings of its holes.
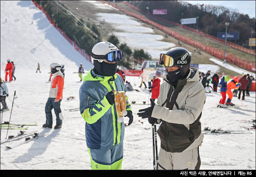
{"type": "Polygon", "coordinates": [[[199,147],[181,153],[170,153],[160,148],[158,160],[159,170],[199,170],[201,165],[199,147]]]}

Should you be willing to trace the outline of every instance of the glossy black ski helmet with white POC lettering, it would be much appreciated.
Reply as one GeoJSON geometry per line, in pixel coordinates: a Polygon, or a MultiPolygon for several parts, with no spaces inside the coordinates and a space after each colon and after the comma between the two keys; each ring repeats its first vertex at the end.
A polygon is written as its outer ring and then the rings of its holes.
{"type": "Polygon", "coordinates": [[[188,72],[191,62],[191,56],[188,50],[182,47],[175,47],[165,52],[165,55],[173,58],[174,63],[172,66],[179,67],[180,71],[182,72],[182,76],[188,72]]]}

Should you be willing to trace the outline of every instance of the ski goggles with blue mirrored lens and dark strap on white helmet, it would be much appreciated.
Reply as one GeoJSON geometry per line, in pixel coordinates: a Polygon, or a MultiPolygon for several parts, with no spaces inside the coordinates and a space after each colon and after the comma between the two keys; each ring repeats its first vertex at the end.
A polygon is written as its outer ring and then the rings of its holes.
{"type": "Polygon", "coordinates": [[[112,51],[106,55],[95,55],[94,53],[92,53],[92,58],[98,60],[99,62],[103,62],[103,60],[107,60],[109,62],[116,62],[123,60],[123,53],[121,50],[112,51]]]}

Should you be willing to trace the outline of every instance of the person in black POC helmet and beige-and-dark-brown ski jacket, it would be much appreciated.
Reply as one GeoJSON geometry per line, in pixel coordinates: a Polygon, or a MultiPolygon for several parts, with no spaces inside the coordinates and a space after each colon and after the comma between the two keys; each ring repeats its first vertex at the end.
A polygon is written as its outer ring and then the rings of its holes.
{"type": "Polygon", "coordinates": [[[160,54],[159,64],[167,69],[160,86],[157,104],[139,110],[139,117],[150,124],[161,123],[157,134],[161,140],[159,169],[197,170],[200,168],[199,146],[204,138],[200,118],[205,102],[199,71],[190,67],[188,50],[176,47],[160,54]]]}

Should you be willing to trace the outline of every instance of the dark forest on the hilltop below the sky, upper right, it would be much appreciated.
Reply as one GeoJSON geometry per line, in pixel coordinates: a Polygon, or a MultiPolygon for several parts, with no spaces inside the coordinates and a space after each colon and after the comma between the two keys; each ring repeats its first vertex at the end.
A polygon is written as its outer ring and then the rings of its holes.
{"type": "MultiPolygon", "coordinates": [[[[254,31],[255,38],[255,18],[250,18],[248,14],[241,14],[236,9],[229,9],[224,6],[212,4],[193,5],[184,1],[160,1],[160,0],[140,0],[130,1],[130,3],[139,9],[153,13],[153,9],[167,9],[167,15],[161,15],[162,18],[176,23],[180,23],[181,18],[198,18],[198,30],[209,35],[217,37],[217,32],[226,32],[225,22],[229,22],[228,32],[239,32],[239,39],[236,44],[247,47],[251,31],[254,31]],[[183,14],[182,14],[183,13],[183,14]]],[[[196,29],[196,24],[186,24],[190,28],[196,29]]],[[[230,42],[235,42],[231,40],[230,42]]],[[[253,47],[255,50],[255,47],[253,47]]]]}

